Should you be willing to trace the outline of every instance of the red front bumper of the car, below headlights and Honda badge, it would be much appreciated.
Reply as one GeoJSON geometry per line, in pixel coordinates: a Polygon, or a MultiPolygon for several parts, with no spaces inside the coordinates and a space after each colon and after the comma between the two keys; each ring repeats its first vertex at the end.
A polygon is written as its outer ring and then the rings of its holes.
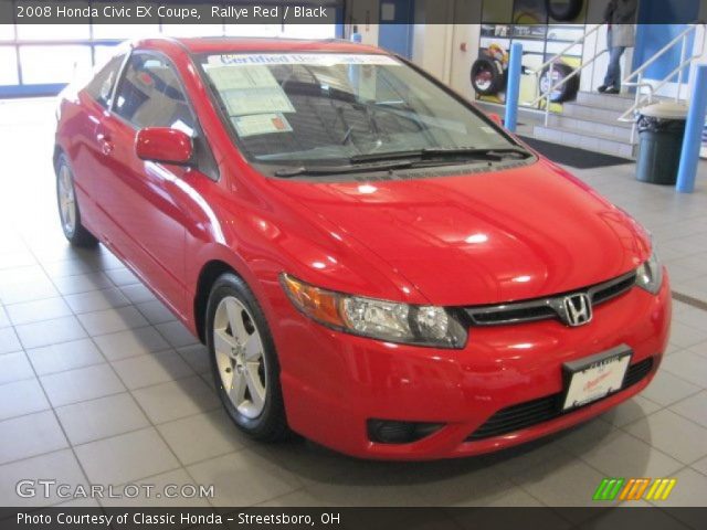
{"type": "Polygon", "coordinates": [[[569,328],[545,320],[473,327],[463,350],[392,344],[333,331],[300,315],[284,295],[279,298],[273,305],[274,335],[291,427],[321,445],[366,458],[478,455],[584,422],[650,383],[671,321],[667,275],[657,295],[634,287],[598,306],[587,326],[569,328]],[[650,371],[635,384],[551,420],[469,439],[496,412],[561,393],[563,363],[620,344],[632,349],[632,365],[653,358],[650,371]],[[418,442],[381,444],[369,439],[369,418],[444,427],[418,442]]]}

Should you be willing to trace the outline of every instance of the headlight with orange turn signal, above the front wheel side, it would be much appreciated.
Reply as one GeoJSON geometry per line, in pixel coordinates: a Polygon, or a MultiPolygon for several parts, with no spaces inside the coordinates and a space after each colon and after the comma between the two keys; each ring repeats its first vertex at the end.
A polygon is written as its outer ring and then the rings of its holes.
{"type": "Polygon", "coordinates": [[[345,295],[281,276],[285,293],[309,318],[361,337],[439,348],[463,348],[466,329],[446,309],[345,295]]]}

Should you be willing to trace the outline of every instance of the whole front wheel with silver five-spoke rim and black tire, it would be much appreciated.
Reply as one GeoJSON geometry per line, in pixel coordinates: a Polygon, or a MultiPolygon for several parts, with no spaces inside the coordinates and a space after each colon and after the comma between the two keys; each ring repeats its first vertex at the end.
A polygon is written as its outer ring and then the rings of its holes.
{"type": "Polygon", "coordinates": [[[279,365],[253,294],[238,276],[224,274],[213,286],[207,317],[213,378],[226,412],[256,439],[286,437],[279,365]]]}

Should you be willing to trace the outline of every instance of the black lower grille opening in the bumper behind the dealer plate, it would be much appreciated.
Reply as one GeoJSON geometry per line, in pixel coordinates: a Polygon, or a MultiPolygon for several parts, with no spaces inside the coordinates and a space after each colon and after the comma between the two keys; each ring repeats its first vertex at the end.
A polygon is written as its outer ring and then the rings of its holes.
{"type": "MultiPolygon", "coordinates": [[[[642,381],[652,369],[652,357],[630,365],[626,370],[626,375],[621,390],[625,390],[642,381]]],[[[504,434],[531,427],[532,425],[548,422],[577,411],[578,409],[567,412],[562,411],[562,395],[563,394],[560,392],[558,394],[548,395],[546,398],[502,409],[489,417],[486,423],[478,427],[474,433],[472,433],[466,438],[466,442],[476,442],[478,439],[502,436],[504,434]]]]}

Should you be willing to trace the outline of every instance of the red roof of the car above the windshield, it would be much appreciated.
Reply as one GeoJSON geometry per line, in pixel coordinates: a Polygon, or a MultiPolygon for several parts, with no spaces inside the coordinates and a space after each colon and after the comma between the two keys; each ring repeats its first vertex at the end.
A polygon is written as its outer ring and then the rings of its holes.
{"type": "Polygon", "coordinates": [[[388,53],[374,46],[357,44],[340,39],[304,40],[240,36],[157,38],[144,39],[135,47],[160,49],[168,43],[179,43],[188,52],[238,53],[238,52],[339,52],[339,53],[388,53]]]}

